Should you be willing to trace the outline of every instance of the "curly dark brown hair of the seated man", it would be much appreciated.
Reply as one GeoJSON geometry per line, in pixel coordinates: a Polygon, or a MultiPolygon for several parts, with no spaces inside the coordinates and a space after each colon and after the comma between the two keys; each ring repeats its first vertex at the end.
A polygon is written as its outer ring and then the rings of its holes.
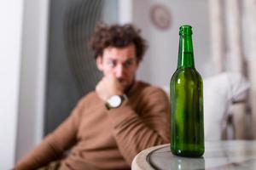
{"type": "Polygon", "coordinates": [[[102,56],[104,48],[124,48],[134,44],[137,62],[140,62],[148,48],[147,42],[141,37],[140,32],[131,24],[108,26],[100,23],[96,26],[96,30],[90,39],[90,47],[95,51],[95,58],[97,58],[102,56]]]}

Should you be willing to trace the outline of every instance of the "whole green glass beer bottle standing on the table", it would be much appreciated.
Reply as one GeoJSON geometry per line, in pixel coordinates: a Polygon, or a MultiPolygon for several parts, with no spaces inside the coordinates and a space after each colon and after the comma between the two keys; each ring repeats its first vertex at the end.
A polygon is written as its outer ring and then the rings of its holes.
{"type": "Polygon", "coordinates": [[[195,70],[192,27],[179,29],[177,70],[170,82],[172,154],[199,157],[204,154],[203,84],[195,70]]]}

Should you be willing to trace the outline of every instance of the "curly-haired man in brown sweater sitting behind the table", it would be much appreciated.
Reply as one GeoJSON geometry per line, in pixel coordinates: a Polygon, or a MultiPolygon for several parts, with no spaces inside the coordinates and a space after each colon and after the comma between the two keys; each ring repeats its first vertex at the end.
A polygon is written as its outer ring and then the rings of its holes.
{"type": "Polygon", "coordinates": [[[59,169],[130,169],[138,152],[169,143],[169,103],[164,91],[136,81],[147,48],[132,25],[98,25],[90,45],[104,77],[96,91],[79,100],[71,115],[15,169],[44,167],[61,159],[59,169]]]}

